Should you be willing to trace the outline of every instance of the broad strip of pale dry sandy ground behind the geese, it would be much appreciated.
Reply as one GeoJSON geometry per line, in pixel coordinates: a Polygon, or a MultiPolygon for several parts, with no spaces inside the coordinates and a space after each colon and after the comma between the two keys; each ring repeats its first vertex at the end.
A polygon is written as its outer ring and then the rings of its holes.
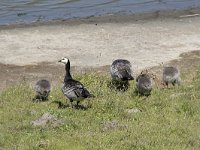
{"type": "Polygon", "coordinates": [[[200,49],[198,15],[126,19],[0,28],[0,90],[21,80],[62,81],[63,56],[74,70],[108,71],[114,59],[125,58],[138,72],[200,49]]]}

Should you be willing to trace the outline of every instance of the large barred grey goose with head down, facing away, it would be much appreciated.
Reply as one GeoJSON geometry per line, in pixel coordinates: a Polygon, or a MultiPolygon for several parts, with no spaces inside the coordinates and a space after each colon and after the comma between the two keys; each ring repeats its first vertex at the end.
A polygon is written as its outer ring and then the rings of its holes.
{"type": "Polygon", "coordinates": [[[112,77],[111,85],[118,90],[125,91],[128,89],[129,80],[134,80],[132,76],[131,63],[125,59],[116,59],[110,66],[112,77]]]}

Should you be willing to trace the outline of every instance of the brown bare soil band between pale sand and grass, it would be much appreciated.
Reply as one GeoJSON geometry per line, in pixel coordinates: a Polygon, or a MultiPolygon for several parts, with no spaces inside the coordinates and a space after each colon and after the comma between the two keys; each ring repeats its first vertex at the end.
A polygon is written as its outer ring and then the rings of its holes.
{"type": "MultiPolygon", "coordinates": [[[[185,74],[186,72],[188,74],[190,70],[200,66],[200,51],[195,50],[183,53],[180,55],[180,59],[169,61],[165,65],[177,66],[180,68],[181,74],[185,74]]],[[[162,66],[158,65],[147,69],[161,79],[162,66]]],[[[30,86],[33,86],[38,79],[43,78],[50,80],[53,85],[61,85],[65,73],[64,65],[51,64],[48,62],[26,66],[0,64],[0,70],[0,91],[24,81],[30,83],[30,86]]],[[[109,76],[109,66],[93,68],[72,67],[71,71],[72,74],[95,72],[107,74],[109,76]]],[[[136,74],[139,74],[139,70],[136,72],[136,74]]],[[[190,80],[190,76],[188,77],[188,80],[190,80]]]]}

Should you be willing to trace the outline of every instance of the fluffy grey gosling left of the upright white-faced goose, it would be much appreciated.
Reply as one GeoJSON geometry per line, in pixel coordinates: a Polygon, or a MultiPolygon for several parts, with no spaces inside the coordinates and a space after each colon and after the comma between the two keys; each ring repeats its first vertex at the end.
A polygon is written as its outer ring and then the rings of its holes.
{"type": "Polygon", "coordinates": [[[34,101],[38,100],[48,100],[48,96],[51,91],[51,84],[48,80],[41,79],[38,80],[35,84],[35,98],[34,101]]]}

